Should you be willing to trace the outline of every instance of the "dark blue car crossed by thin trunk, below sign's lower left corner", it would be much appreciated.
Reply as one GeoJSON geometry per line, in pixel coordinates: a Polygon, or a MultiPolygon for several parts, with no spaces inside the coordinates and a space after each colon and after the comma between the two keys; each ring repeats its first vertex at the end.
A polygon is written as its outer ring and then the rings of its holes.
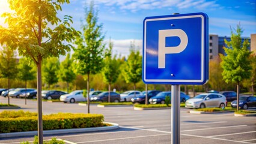
{"type": "MultiPolygon", "coordinates": [[[[161,92],[161,91],[157,91],[157,90],[148,91],[148,94],[147,94],[148,100],[149,100],[151,97],[156,96],[159,92],[161,92]]],[[[143,91],[143,92],[142,92],[142,95],[133,97],[133,98],[131,99],[131,101],[132,101],[132,103],[144,104],[144,103],[145,103],[145,99],[146,99],[146,92],[143,91]]]]}

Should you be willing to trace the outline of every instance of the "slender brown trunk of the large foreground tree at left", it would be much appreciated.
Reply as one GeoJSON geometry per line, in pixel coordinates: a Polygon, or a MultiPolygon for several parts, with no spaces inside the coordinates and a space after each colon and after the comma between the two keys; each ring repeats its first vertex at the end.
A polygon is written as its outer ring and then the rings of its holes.
{"type": "Polygon", "coordinates": [[[43,112],[42,112],[42,82],[41,82],[41,56],[38,56],[37,63],[37,110],[38,110],[38,142],[43,144],[43,112]]]}

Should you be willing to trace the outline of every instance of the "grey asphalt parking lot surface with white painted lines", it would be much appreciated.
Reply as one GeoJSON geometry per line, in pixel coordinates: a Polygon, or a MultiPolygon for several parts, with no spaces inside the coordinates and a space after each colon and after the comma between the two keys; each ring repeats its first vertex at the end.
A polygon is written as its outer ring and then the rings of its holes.
{"type": "MultiPolygon", "coordinates": [[[[37,112],[37,101],[11,98],[24,111],[37,112]]],[[[7,98],[0,97],[0,103],[7,98]]],[[[2,112],[4,109],[0,109],[2,112]]],[[[133,110],[132,106],[97,107],[91,104],[91,113],[102,113],[105,122],[120,125],[117,130],[93,133],[55,134],[44,140],[57,137],[66,143],[171,143],[171,109],[133,110]]],[[[256,143],[256,118],[235,117],[234,113],[190,114],[181,108],[180,143],[256,143]]],[[[58,112],[87,113],[87,106],[43,101],[43,114],[58,112]]],[[[0,143],[31,141],[33,137],[11,137],[0,143]]]]}

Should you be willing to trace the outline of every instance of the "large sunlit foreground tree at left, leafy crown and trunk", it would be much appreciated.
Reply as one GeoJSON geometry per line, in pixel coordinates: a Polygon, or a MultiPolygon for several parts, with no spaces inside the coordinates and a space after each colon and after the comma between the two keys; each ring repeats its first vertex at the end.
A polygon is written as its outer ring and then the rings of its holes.
{"type": "Polygon", "coordinates": [[[13,13],[4,13],[8,28],[0,26],[0,43],[17,49],[19,55],[31,58],[37,65],[38,140],[43,143],[41,104],[41,62],[49,56],[65,55],[78,32],[70,27],[72,17],[57,17],[61,5],[69,0],[8,0],[13,13]],[[62,43],[62,42],[66,43],[62,43]]]}

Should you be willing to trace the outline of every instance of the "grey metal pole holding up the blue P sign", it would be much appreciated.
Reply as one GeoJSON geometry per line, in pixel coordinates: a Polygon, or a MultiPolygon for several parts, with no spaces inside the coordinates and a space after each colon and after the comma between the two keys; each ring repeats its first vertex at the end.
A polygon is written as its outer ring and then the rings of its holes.
{"type": "Polygon", "coordinates": [[[171,86],[171,143],[180,144],[180,85],[171,86]]]}

